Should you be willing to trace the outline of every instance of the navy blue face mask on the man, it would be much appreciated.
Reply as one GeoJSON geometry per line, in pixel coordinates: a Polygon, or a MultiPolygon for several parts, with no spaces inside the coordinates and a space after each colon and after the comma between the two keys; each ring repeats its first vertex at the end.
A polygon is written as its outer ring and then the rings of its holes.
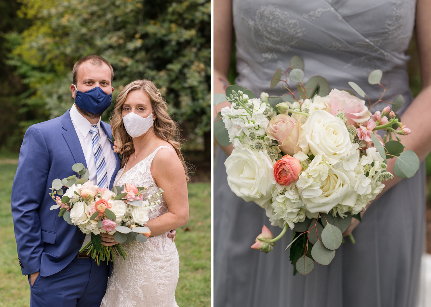
{"type": "Polygon", "coordinates": [[[75,89],[75,103],[82,110],[93,114],[99,114],[105,112],[111,105],[112,92],[108,95],[98,86],[84,93],[78,91],[76,86],[75,89]]]}

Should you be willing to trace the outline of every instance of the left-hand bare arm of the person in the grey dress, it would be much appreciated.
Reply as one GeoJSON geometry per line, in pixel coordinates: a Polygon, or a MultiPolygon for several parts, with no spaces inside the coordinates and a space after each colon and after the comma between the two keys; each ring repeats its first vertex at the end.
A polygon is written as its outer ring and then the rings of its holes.
{"type": "MultiPolygon", "coordinates": [[[[225,94],[228,81],[229,66],[231,65],[232,36],[232,0],[217,0],[214,4],[214,89],[213,93],[225,94]]],[[[214,106],[214,119],[223,107],[230,107],[231,103],[225,101],[214,106]]],[[[221,119],[220,119],[221,120],[221,119]]],[[[220,146],[220,145],[219,145],[220,146]]],[[[232,144],[221,146],[227,155],[230,155],[234,147],[232,144]]]]}

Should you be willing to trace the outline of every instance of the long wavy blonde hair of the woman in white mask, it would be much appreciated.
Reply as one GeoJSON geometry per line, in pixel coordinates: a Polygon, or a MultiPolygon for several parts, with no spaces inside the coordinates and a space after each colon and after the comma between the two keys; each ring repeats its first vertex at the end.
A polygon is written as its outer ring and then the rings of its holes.
{"type": "Polygon", "coordinates": [[[116,151],[122,154],[121,167],[125,166],[130,155],[134,153],[132,138],[127,134],[123,124],[123,104],[127,95],[131,91],[138,90],[143,91],[150,98],[151,107],[153,108],[154,115],[156,117],[153,124],[154,134],[174,147],[178,158],[180,158],[181,163],[183,164],[188,182],[188,169],[184,161],[183,154],[181,153],[181,140],[178,124],[169,116],[166,101],[160,95],[159,89],[152,81],[146,79],[133,81],[121,90],[116,99],[113,115],[109,118],[111,120],[112,135],[117,143],[116,151]]]}

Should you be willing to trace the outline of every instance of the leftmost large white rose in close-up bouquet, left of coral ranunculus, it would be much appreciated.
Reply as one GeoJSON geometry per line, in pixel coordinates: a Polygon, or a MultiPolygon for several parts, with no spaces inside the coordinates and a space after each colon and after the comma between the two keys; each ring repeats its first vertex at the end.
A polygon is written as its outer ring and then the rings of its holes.
{"type": "Polygon", "coordinates": [[[226,159],[226,173],[231,190],[245,201],[254,201],[259,206],[272,198],[275,186],[272,161],[266,150],[252,151],[243,148],[234,140],[235,149],[226,159]]]}

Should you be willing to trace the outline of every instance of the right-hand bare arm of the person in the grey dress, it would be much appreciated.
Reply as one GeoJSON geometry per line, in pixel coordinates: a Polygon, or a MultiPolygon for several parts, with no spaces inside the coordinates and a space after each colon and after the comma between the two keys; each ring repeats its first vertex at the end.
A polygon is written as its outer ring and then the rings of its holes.
{"type": "MultiPolygon", "coordinates": [[[[406,145],[406,150],[413,150],[421,162],[425,160],[431,151],[431,125],[429,124],[429,112],[431,111],[431,19],[428,16],[430,10],[430,1],[417,1],[416,41],[420,60],[422,91],[401,116],[403,125],[406,125],[412,131],[410,135],[400,135],[402,143],[406,145]]],[[[394,158],[387,160],[387,171],[392,174],[394,173],[395,161],[394,158]]],[[[378,197],[400,181],[401,178],[397,176],[394,176],[392,180],[385,181],[385,187],[378,197]]],[[[366,208],[370,205],[368,204],[366,208]]],[[[365,212],[362,212],[361,215],[365,212]]],[[[352,223],[343,235],[349,235],[358,224],[357,219],[352,219],[352,223]]]]}

